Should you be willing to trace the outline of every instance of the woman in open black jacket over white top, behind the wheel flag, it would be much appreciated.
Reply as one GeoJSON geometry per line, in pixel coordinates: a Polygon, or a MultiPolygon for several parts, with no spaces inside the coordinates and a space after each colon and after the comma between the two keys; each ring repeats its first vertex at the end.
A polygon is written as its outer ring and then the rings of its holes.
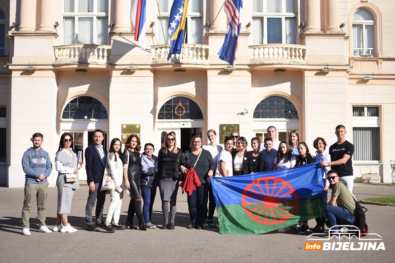
{"type": "Polygon", "coordinates": [[[248,142],[244,137],[237,139],[237,151],[232,152],[233,176],[253,173],[252,154],[247,151],[248,142]]]}

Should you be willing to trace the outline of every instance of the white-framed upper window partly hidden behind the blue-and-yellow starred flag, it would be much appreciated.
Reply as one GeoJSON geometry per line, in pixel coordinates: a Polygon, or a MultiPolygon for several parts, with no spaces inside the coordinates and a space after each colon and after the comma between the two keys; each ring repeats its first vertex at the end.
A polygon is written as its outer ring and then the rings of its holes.
{"type": "MultiPolygon", "coordinates": [[[[158,44],[169,43],[167,29],[173,0],[158,0],[158,26],[156,31],[158,44]]],[[[202,0],[189,0],[185,25],[185,43],[201,44],[203,29],[202,0]]]]}

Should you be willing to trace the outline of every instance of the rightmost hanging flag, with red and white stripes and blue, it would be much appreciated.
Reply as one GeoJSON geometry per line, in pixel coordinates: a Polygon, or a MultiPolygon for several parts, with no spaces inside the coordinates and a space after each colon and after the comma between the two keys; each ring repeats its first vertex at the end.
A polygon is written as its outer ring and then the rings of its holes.
{"type": "Polygon", "coordinates": [[[226,61],[235,67],[237,40],[241,27],[243,0],[225,0],[224,10],[230,22],[224,44],[219,50],[218,55],[220,60],[226,61]]]}

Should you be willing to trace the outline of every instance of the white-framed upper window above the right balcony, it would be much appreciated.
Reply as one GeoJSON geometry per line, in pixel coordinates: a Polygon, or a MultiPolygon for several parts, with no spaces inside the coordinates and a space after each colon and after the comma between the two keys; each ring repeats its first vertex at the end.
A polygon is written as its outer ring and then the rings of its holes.
{"type": "Polygon", "coordinates": [[[296,1],[253,0],[254,44],[296,44],[296,1]]]}

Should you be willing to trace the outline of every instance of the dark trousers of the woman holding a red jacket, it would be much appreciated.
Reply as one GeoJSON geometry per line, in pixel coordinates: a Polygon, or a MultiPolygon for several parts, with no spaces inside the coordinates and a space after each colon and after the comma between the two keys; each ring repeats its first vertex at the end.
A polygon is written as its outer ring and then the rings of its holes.
{"type": "Polygon", "coordinates": [[[188,210],[193,225],[203,226],[207,215],[207,198],[210,184],[202,184],[188,196],[188,210]]]}

